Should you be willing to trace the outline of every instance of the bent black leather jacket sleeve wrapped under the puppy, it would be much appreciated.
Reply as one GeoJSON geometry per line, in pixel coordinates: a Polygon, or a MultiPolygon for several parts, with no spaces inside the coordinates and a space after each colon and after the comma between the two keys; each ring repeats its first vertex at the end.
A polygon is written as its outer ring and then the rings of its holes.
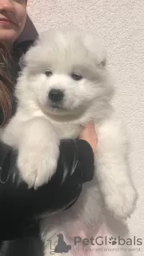
{"type": "Polygon", "coordinates": [[[45,212],[66,210],[78,199],[82,183],[90,181],[94,175],[93,151],[82,140],[61,142],[57,171],[51,181],[38,190],[28,189],[22,181],[14,150],[1,143],[0,156],[0,228],[5,226],[2,235],[16,229],[19,234],[22,226],[26,229],[28,222],[33,226],[32,219],[35,221],[45,212]],[[9,226],[9,232],[6,226],[9,226]]]}

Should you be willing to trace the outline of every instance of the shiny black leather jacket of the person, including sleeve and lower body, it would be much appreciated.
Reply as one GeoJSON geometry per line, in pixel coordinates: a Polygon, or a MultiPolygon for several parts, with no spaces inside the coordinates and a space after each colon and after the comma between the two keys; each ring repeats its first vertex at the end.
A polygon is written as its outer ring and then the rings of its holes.
{"type": "MultiPolygon", "coordinates": [[[[22,46],[26,50],[26,43],[22,46]]],[[[82,183],[93,178],[94,155],[86,141],[63,140],[56,174],[38,190],[28,189],[19,177],[16,160],[17,152],[1,142],[0,256],[40,256],[39,217],[46,211],[66,210],[78,199],[82,183]]]]}

